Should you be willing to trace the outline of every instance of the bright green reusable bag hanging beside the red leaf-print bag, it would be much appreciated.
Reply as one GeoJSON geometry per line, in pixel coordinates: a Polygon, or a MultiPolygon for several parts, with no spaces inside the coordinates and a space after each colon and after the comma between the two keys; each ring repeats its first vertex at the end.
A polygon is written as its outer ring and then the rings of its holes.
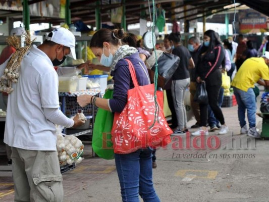
{"type": "MultiPolygon", "coordinates": [[[[107,89],[103,98],[113,98],[113,89],[107,89]]],[[[114,159],[114,150],[111,137],[114,114],[98,109],[92,135],[92,148],[98,157],[106,160],[114,159]]]]}

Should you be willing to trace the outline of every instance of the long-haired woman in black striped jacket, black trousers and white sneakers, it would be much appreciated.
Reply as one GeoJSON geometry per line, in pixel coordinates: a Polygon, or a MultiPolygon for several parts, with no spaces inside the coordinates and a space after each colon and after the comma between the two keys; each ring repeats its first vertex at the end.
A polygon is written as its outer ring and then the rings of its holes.
{"type": "MultiPolygon", "coordinates": [[[[205,82],[205,88],[208,96],[208,104],[211,107],[215,117],[222,124],[219,135],[227,134],[229,129],[225,125],[224,116],[218,104],[218,97],[222,86],[222,72],[220,67],[225,59],[225,49],[219,40],[216,32],[207,30],[203,35],[203,45],[198,56],[196,68],[196,81],[205,82]]],[[[207,104],[199,104],[201,127],[192,133],[194,136],[201,134],[208,135],[206,127],[207,104]]]]}

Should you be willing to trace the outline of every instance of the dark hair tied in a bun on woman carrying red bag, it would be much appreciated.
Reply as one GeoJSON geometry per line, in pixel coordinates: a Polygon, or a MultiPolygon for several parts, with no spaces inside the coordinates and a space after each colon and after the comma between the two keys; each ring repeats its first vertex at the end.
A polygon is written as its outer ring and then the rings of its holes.
{"type": "Polygon", "coordinates": [[[113,45],[121,45],[121,39],[125,37],[124,29],[99,29],[93,34],[90,47],[103,47],[103,42],[109,42],[113,45]]]}

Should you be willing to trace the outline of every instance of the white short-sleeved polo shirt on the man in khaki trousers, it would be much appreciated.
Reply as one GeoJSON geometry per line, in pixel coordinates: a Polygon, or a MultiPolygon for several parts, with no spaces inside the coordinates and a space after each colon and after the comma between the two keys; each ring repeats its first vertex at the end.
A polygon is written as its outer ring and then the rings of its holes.
{"type": "MultiPolygon", "coordinates": [[[[3,71],[1,65],[0,74],[3,71]]],[[[33,45],[9,94],[5,143],[29,150],[56,150],[56,127],[46,119],[43,108],[59,108],[58,84],[50,59],[33,45]]]]}

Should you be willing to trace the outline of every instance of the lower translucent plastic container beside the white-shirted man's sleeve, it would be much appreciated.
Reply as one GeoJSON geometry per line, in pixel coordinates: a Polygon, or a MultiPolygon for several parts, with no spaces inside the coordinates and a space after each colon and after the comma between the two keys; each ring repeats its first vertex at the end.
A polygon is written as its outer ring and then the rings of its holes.
{"type": "Polygon", "coordinates": [[[77,77],[59,76],[58,92],[74,92],[77,90],[77,86],[78,86],[77,77]]]}

